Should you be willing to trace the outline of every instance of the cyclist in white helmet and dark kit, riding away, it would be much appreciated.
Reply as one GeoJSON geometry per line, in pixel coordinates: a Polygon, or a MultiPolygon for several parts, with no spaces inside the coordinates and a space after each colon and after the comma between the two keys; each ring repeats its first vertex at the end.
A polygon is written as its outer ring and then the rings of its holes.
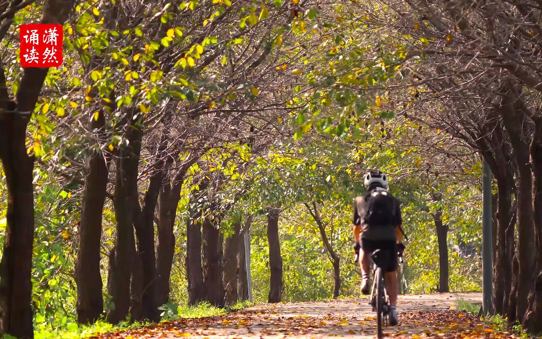
{"type": "Polygon", "coordinates": [[[399,202],[388,192],[388,176],[381,171],[369,171],[364,184],[365,197],[354,200],[353,231],[356,239],[354,251],[356,261],[362,270],[361,290],[364,295],[370,293],[371,253],[375,250],[390,251],[392,258],[385,273],[386,291],[390,298],[389,323],[397,325],[397,253],[404,250],[399,202]],[[359,259],[359,260],[358,260],[359,259]]]}

